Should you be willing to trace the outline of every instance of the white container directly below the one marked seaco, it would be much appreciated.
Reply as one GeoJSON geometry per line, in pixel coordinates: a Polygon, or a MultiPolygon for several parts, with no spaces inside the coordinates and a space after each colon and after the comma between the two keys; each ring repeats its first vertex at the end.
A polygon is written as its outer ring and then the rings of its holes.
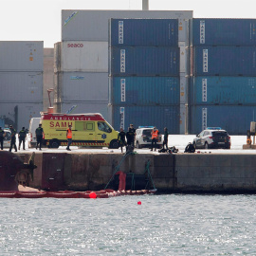
{"type": "Polygon", "coordinates": [[[61,101],[108,101],[108,73],[59,72],[61,101]]]}

